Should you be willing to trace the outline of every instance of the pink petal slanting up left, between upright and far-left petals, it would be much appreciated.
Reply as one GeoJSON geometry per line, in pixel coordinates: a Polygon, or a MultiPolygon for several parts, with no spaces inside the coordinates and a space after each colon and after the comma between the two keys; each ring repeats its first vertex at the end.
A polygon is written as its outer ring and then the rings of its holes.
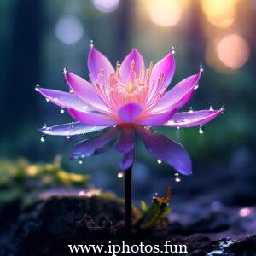
{"type": "Polygon", "coordinates": [[[90,108],[95,108],[104,113],[109,113],[106,105],[97,96],[96,90],[94,90],[92,84],[82,79],[78,75],[68,72],[67,69],[64,69],[64,75],[67,79],[67,84],[73,90],[74,94],[79,96],[79,98],[87,106],[90,106],[90,108]]]}

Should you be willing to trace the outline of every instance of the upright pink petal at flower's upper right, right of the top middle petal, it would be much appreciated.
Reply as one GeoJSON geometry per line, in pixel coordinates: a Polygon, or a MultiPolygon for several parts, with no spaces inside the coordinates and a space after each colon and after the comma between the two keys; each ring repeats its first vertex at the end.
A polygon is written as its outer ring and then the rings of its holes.
{"type": "Polygon", "coordinates": [[[150,95],[148,97],[148,100],[151,100],[151,98],[154,96],[154,92],[158,90],[157,83],[160,79],[160,76],[164,74],[164,84],[169,85],[172,81],[173,74],[175,72],[175,61],[172,53],[169,53],[158,61],[153,69],[150,76],[149,86],[151,86],[150,95]]]}

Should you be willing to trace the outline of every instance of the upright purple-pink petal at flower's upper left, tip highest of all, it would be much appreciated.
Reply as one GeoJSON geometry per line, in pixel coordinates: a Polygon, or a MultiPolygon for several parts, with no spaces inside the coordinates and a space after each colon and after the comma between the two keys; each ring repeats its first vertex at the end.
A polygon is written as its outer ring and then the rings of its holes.
{"type": "Polygon", "coordinates": [[[114,69],[110,61],[108,61],[108,58],[102,55],[102,53],[95,49],[94,46],[90,49],[88,56],[88,69],[90,72],[90,79],[93,84],[96,84],[97,77],[102,72],[102,70],[104,71],[105,84],[108,83],[109,75],[114,73],[114,69]]]}

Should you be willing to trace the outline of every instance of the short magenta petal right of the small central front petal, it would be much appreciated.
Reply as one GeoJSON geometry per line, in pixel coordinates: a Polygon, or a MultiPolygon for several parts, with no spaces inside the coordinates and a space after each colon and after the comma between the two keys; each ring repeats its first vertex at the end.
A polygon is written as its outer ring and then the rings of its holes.
{"type": "Polygon", "coordinates": [[[139,120],[137,123],[140,125],[149,125],[149,126],[159,126],[166,123],[167,120],[170,120],[177,109],[169,110],[165,113],[156,113],[153,115],[147,116],[145,119],[139,120]]]}

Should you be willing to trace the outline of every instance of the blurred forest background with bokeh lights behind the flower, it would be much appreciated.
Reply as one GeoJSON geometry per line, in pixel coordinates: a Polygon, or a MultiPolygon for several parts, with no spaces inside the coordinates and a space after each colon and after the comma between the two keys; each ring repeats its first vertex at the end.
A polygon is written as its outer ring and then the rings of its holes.
{"type": "Polygon", "coordinates": [[[179,198],[225,187],[230,193],[239,191],[242,204],[255,200],[255,0],[2,0],[0,17],[1,158],[51,162],[61,155],[68,172],[91,174],[97,187],[122,195],[118,154],[111,151],[79,164],[68,155],[80,137],[46,137],[41,142],[38,127],[72,119],[45,102],[35,85],[67,90],[65,66],[88,79],[91,39],[113,65],[131,48],[149,64],[174,46],[172,85],[196,73],[200,64],[205,68],[199,89],[183,109],[224,105],[225,113],[202,134],[197,128],[162,129],[189,150],[191,177],[175,180],[172,167],[158,164],[138,141],[135,199],[150,200],[171,185],[179,198]],[[242,186],[251,197],[242,196],[242,186]]]}

